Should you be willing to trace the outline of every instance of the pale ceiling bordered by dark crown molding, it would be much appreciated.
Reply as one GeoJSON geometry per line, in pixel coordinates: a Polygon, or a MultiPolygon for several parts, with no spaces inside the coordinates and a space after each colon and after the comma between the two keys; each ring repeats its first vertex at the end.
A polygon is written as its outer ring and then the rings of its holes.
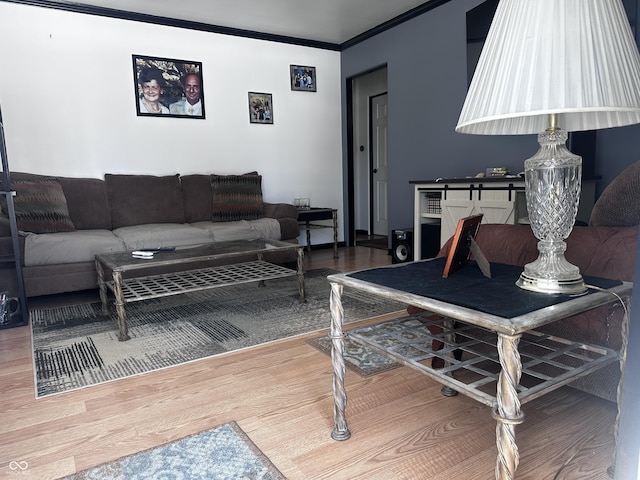
{"type": "MultiPolygon", "coordinates": [[[[144,20],[136,17],[142,14],[179,22],[204,24],[201,26],[290,37],[303,40],[301,44],[326,43],[339,46],[385,22],[398,20],[398,17],[407,17],[412,13],[421,13],[416,10],[425,8],[427,3],[442,2],[437,0],[74,0],[28,3],[144,20]],[[113,10],[119,12],[113,12],[113,10]]],[[[147,20],[153,21],[153,19],[147,20]]]]}

